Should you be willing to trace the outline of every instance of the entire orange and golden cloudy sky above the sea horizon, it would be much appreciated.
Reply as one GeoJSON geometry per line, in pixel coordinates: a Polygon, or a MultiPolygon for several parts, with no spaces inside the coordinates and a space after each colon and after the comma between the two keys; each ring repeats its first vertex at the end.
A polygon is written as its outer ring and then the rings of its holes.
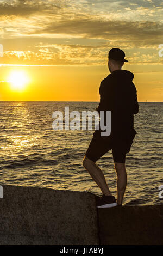
{"type": "Polygon", "coordinates": [[[161,1],[1,1],[0,100],[99,101],[108,51],[118,47],[138,101],[162,101],[162,9],[161,1]],[[20,90],[13,72],[28,78],[20,90]]]}

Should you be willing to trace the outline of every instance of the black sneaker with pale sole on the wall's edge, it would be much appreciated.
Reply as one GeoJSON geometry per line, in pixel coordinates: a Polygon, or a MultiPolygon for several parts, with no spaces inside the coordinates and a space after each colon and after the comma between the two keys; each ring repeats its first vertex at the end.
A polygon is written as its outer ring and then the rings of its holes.
{"type": "Polygon", "coordinates": [[[115,197],[105,196],[105,194],[103,194],[102,197],[96,198],[96,203],[97,208],[109,208],[118,205],[115,197]]]}

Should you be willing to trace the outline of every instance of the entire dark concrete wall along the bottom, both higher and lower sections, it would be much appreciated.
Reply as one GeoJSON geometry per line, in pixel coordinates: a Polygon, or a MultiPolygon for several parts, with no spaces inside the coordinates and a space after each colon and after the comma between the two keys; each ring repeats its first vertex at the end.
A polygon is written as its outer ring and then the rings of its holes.
{"type": "Polygon", "coordinates": [[[0,245],[161,245],[163,205],[96,208],[90,192],[3,185],[0,245]]]}

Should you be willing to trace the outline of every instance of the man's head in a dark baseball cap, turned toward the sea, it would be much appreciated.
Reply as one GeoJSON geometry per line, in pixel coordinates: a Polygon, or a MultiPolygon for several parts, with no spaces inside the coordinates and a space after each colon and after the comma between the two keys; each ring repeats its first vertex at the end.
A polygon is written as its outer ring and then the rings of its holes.
{"type": "Polygon", "coordinates": [[[124,62],[128,60],[124,59],[125,53],[119,48],[112,48],[108,54],[108,68],[110,72],[114,70],[121,69],[124,62]]]}

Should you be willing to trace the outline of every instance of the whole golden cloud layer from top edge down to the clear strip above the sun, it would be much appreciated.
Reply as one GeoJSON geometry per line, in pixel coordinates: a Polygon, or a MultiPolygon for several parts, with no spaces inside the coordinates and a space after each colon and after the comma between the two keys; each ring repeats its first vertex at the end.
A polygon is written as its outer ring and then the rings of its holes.
{"type": "Polygon", "coordinates": [[[157,20],[161,4],[156,0],[0,1],[0,34],[5,44],[1,61],[103,65],[108,50],[120,47],[127,50],[132,63],[162,64],[156,56],[156,48],[163,42],[163,23],[157,20]],[[139,53],[134,55],[130,49],[139,53]]]}

